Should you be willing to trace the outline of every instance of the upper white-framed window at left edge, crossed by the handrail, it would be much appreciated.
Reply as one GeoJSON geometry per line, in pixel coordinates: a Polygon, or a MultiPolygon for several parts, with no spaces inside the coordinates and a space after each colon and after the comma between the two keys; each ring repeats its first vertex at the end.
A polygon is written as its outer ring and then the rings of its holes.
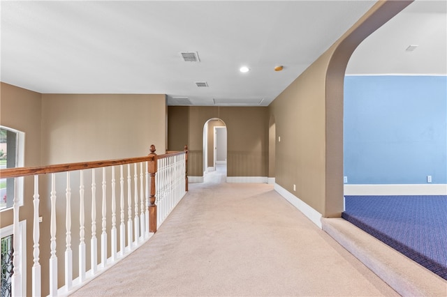
{"type": "MultiPolygon", "coordinates": [[[[0,126],[0,168],[24,166],[24,132],[0,126]]],[[[23,178],[0,178],[0,210],[23,205],[23,178]]]]}

